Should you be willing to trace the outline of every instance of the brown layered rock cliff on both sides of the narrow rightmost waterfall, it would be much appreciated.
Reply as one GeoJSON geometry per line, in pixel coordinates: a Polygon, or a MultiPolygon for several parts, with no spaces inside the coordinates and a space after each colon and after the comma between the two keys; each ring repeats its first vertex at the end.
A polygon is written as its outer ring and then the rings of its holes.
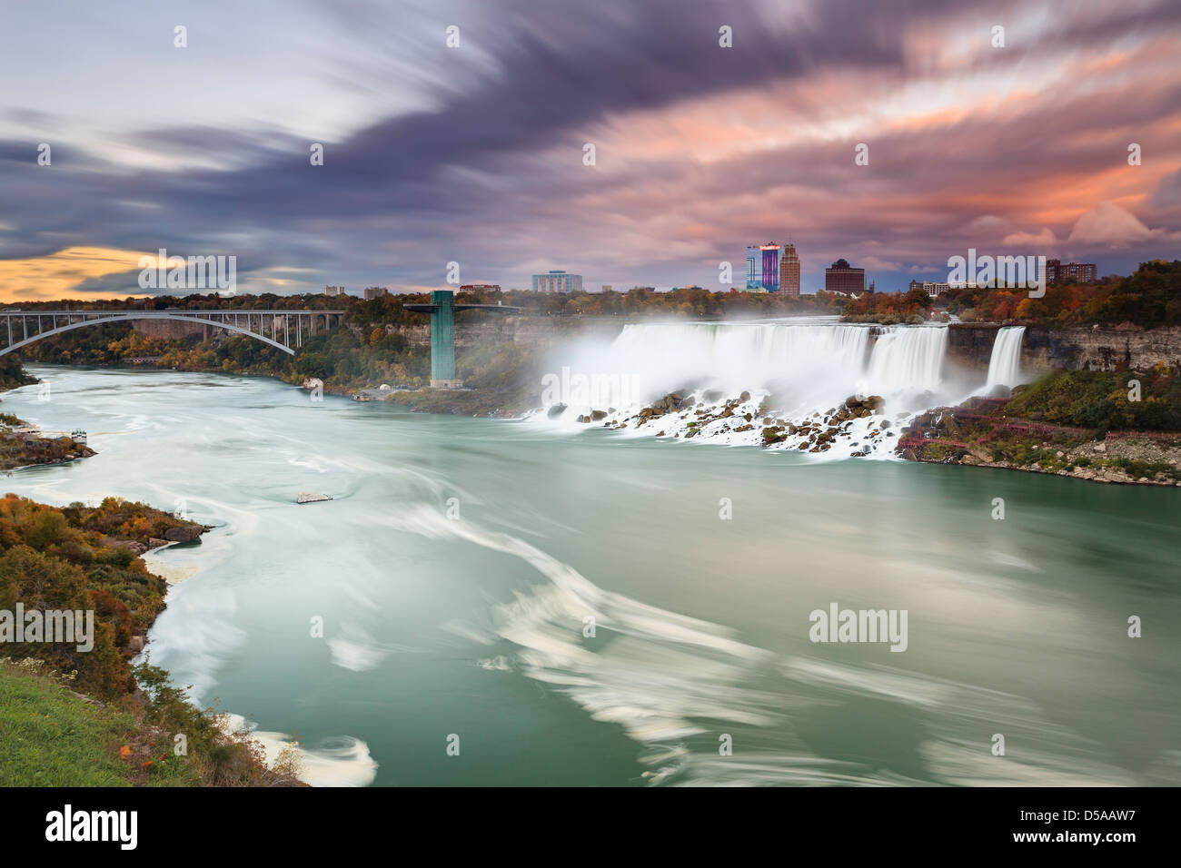
{"type": "MultiPolygon", "coordinates": [[[[947,334],[948,357],[968,367],[987,368],[999,328],[994,322],[953,322],[947,334]]],[[[1030,326],[1022,342],[1022,365],[1027,368],[1114,371],[1151,367],[1159,361],[1181,367],[1181,328],[1030,326]]]]}

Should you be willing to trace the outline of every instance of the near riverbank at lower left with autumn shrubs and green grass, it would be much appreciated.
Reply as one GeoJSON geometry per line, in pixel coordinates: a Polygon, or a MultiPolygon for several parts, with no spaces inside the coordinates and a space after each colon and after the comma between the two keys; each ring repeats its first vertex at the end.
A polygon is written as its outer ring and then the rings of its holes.
{"type": "Polygon", "coordinates": [[[135,664],[169,587],[141,555],[208,529],[113,497],[0,500],[0,783],[300,785],[294,745],[268,763],[247,727],[135,664]]]}

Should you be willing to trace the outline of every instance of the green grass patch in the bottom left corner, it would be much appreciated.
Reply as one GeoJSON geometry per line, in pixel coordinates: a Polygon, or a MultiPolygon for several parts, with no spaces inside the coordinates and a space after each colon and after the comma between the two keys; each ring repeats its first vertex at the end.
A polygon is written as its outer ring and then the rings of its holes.
{"type": "Polygon", "coordinates": [[[0,787],[130,787],[118,750],[135,732],[126,711],[0,664],[0,787]]]}

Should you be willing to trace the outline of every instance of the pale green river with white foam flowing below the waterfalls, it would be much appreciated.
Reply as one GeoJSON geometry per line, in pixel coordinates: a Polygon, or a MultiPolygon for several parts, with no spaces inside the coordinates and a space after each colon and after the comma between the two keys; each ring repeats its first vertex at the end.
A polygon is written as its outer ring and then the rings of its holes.
{"type": "Polygon", "coordinates": [[[98,455],[6,490],[214,526],[151,661],[318,783],[1181,781],[1175,489],[30,370],[2,411],[98,455]],[[833,603],[906,650],[811,641],[833,603]]]}

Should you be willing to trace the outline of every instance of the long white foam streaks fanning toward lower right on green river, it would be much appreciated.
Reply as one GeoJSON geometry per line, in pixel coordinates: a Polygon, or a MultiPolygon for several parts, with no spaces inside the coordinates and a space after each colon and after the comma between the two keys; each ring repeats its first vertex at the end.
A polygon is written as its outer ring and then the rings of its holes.
{"type": "Polygon", "coordinates": [[[518,537],[446,520],[425,505],[390,523],[428,539],[514,555],[548,580],[494,605],[485,624],[448,628],[482,645],[513,642],[515,660],[482,657],[475,665],[496,673],[520,670],[565,692],[595,720],[618,724],[644,746],[640,762],[650,784],[1134,782],[1130,772],[1104,762],[1097,745],[1019,697],[882,666],[781,659],[722,625],[605,590],[518,537]],[[593,642],[583,638],[588,616],[596,631],[593,642]],[[775,672],[785,677],[785,687],[755,686],[775,672]],[[842,694],[919,709],[926,725],[920,752],[929,779],[817,756],[794,731],[792,717],[817,703],[834,704],[842,694]],[[998,726],[1020,745],[1003,762],[991,756],[987,740],[998,726]],[[716,744],[702,748],[718,732],[748,733],[740,755],[719,756],[716,744]]]}

